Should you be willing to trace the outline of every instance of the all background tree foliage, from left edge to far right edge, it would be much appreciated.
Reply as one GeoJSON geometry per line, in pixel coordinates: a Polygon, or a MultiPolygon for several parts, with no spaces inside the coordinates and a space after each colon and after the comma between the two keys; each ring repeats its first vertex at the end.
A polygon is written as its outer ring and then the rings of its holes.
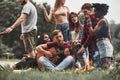
{"type": "MultiPolygon", "coordinates": [[[[45,20],[43,11],[39,8],[40,4],[33,4],[35,5],[38,12],[38,35],[41,35],[42,33],[48,33],[51,35],[51,32],[54,30],[55,21],[52,19],[52,21],[47,22],[45,20]]],[[[46,7],[47,12],[49,13],[50,5],[47,3],[44,3],[43,5],[46,7]]],[[[16,0],[0,0],[0,31],[11,26],[16,21],[16,19],[20,16],[21,9],[22,6],[16,0]]],[[[114,21],[111,21],[109,23],[109,26],[111,28],[114,53],[117,54],[120,52],[120,24],[115,24],[114,21]]],[[[15,53],[15,57],[17,58],[21,58],[23,54],[26,53],[24,51],[23,42],[19,39],[20,34],[21,29],[18,27],[14,29],[10,34],[0,35],[2,44],[7,46],[7,48],[12,48],[13,52],[15,53]]]]}

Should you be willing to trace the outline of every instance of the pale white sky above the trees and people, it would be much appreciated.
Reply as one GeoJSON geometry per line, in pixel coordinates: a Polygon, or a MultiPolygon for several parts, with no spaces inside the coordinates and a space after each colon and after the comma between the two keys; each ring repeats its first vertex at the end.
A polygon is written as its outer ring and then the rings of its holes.
{"type": "MultiPolygon", "coordinates": [[[[47,2],[51,7],[54,6],[55,0],[34,0],[37,3],[47,2]]],[[[78,12],[84,3],[106,3],[109,5],[109,12],[105,16],[108,21],[114,20],[120,23],[120,0],[66,0],[65,5],[69,7],[70,12],[78,12]]]]}

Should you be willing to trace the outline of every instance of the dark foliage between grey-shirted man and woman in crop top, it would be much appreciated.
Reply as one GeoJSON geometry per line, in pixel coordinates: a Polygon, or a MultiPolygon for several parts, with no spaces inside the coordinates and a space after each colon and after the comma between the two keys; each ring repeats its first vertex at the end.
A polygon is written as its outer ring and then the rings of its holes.
{"type": "MultiPolygon", "coordinates": [[[[49,14],[50,12],[50,6],[47,5],[47,3],[44,3],[43,4],[45,7],[46,7],[46,10],[49,14]]],[[[37,5],[37,11],[38,11],[38,34],[41,34],[41,33],[48,33],[48,34],[51,34],[51,32],[54,30],[54,27],[55,27],[55,22],[53,21],[50,21],[50,22],[47,22],[45,20],[45,17],[44,17],[44,13],[43,11],[39,8],[40,5],[37,5]]]]}

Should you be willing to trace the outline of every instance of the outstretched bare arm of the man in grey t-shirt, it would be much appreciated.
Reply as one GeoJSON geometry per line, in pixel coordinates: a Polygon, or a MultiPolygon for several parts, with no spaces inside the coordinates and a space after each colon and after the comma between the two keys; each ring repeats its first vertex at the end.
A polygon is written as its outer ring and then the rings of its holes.
{"type": "Polygon", "coordinates": [[[10,33],[14,28],[18,27],[26,19],[26,17],[27,14],[21,14],[21,16],[16,20],[16,22],[11,27],[8,27],[5,32],[10,33]]]}

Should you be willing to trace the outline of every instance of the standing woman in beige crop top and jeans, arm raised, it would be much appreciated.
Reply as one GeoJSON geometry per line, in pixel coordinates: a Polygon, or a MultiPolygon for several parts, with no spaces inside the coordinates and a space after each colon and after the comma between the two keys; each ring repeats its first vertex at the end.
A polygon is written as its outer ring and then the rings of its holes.
{"type": "Polygon", "coordinates": [[[64,6],[65,0],[56,0],[54,8],[51,8],[50,13],[48,14],[46,8],[41,5],[40,8],[43,10],[45,19],[49,22],[51,21],[52,17],[54,17],[56,22],[56,29],[62,31],[64,36],[64,40],[69,40],[69,24],[68,24],[68,14],[69,8],[64,6]]]}

